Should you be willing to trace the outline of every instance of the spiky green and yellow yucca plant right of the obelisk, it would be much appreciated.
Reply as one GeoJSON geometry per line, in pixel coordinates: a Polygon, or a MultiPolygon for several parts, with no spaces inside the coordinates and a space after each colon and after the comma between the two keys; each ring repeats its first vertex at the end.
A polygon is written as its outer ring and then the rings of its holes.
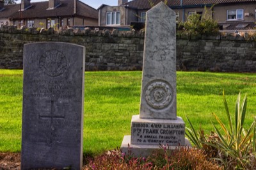
{"type": "MultiPolygon", "coordinates": [[[[214,116],[215,120],[218,122],[218,125],[221,127],[221,130],[219,130],[218,127],[212,123],[214,127],[214,136],[216,137],[208,137],[208,140],[204,139],[196,141],[198,137],[195,129],[192,128],[191,130],[187,128],[190,132],[189,139],[193,138],[193,143],[196,143],[196,146],[202,146],[202,144],[206,144],[218,149],[218,160],[220,160],[220,162],[225,162],[223,163],[225,167],[228,165],[230,166],[230,164],[236,164],[236,169],[246,169],[248,164],[248,157],[250,155],[256,155],[256,117],[254,118],[250,128],[245,130],[243,126],[246,116],[247,96],[245,95],[243,102],[241,103],[241,93],[239,93],[236,100],[234,124],[232,123],[232,115],[229,112],[224,91],[223,104],[227,115],[228,128],[216,114],[212,113],[212,116],[214,116]]],[[[188,118],[187,120],[189,121],[188,118]]],[[[193,127],[190,121],[189,127],[193,127]]]]}

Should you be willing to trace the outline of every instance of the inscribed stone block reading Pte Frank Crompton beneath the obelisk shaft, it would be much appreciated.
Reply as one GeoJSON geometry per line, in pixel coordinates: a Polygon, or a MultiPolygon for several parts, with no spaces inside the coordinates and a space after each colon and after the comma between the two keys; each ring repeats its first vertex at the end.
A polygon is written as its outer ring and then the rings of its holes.
{"type": "Polygon", "coordinates": [[[168,146],[185,145],[185,123],[177,120],[140,119],[132,116],[132,144],[168,144],[168,146]]]}

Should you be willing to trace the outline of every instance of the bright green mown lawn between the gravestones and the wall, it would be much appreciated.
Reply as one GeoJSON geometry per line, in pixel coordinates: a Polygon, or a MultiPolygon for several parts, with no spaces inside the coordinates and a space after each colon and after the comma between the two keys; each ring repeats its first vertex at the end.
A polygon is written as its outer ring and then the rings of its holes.
{"type": "MultiPolygon", "coordinates": [[[[245,124],[249,126],[256,111],[255,79],[253,73],[177,72],[177,115],[185,122],[187,115],[196,129],[202,127],[209,134],[214,120],[211,112],[225,120],[222,89],[231,113],[241,91],[242,96],[248,94],[245,124]]],[[[140,86],[141,72],[86,72],[86,155],[114,149],[124,135],[131,134],[132,115],[140,112],[140,86]]],[[[0,70],[0,151],[20,151],[21,121],[22,70],[0,70]]]]}

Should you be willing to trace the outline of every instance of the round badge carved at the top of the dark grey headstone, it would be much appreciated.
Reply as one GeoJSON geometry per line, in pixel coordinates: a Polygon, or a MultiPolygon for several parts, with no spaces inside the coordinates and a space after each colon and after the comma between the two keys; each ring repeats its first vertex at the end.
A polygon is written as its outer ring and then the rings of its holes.
{"type": "Polygon", "coordinates": [[[47,75],[57,77],[67,69],[67,58],[58,50],[49,50],[41,56],[39,66],[47,75]]]}

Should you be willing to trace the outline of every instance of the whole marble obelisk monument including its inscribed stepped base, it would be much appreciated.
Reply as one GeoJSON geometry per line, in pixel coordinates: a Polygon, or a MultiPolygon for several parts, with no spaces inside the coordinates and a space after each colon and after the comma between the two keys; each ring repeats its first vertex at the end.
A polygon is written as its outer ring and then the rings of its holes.
{"type": "Polygon", "coordinates": [[[147,156],[159,144],[189,145],[185,123],[177,117],[175,12],[163,2],[146,14],[140,115],[132,116],[131,135],[121,149],[147,156]]]}

